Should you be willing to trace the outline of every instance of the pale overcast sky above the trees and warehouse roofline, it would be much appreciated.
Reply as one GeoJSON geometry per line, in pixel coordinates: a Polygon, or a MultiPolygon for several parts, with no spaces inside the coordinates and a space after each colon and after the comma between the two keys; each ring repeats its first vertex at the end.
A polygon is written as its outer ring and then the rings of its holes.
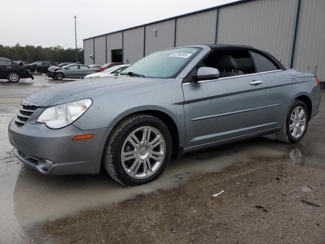
{"type": "Polygon", "coordinates": [[[0,44],[75,46],[83,39],[206,9],[234,0],[11,0],[1,1],[0,44]],[[9,21],[8,21],[9,20],[9,21]],[[4,24],[5,23],[5,24],[4,24]]]}

